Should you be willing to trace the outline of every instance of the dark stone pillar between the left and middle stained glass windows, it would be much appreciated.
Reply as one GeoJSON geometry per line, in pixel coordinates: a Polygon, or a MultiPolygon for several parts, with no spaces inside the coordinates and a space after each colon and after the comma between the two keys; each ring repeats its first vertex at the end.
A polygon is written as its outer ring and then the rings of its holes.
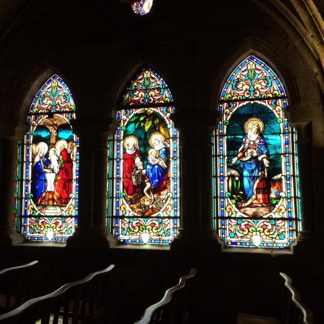
{"type": "Polygon", "coordinates": [[[67,248],[109,248],[116,239],[106,226],[107,130],[111,118],[76,119],[73,132],[79,137],[79,215],[78,228],[67,241],[67,248]],[[96,119],[96,120],[98,120],[96,119]]]}

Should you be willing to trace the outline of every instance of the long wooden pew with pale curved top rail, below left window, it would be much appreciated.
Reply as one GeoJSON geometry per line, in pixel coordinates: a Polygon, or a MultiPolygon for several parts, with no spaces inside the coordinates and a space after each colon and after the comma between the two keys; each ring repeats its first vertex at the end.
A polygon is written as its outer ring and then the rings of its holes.
{"type": "Polygon", "coordinates": [[[107,274],[113,268],[112,264],[81,280],[70,282],[51,294],[28,300],[0,315],[0,323],[95,323],[102,319],[107,306],[102,293],[107,287],[107,274]]]}

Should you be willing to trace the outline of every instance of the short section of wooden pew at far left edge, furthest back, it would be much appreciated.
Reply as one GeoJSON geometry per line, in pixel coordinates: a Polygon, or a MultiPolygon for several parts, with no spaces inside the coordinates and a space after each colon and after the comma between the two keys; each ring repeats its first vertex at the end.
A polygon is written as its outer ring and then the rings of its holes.
{"type": "Polygon", "coordinates": [[[30,297],[30,274],[38,261],[0,271],[0,314],[30,297]]]}

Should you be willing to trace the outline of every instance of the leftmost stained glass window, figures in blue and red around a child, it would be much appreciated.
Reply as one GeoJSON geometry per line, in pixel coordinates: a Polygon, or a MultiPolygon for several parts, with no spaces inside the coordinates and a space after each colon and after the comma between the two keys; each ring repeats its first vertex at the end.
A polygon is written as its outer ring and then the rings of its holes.
{"type": "Polygon", "coordinates": [[[71,91],[53,75],[35,95],[27,116],[29,130],[18,144],[15,224],[21,216],[20,230],[28,240],[64,241],[77,226],[79,144],[70,125],[74,118],[71,91]]]}

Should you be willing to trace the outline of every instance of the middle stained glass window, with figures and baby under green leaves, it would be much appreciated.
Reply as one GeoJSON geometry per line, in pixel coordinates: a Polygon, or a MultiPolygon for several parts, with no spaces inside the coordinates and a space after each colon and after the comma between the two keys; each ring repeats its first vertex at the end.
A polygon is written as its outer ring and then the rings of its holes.
{"type": "Polygon", "coordinates": [[[108,140],[108,226],[120,242],[170,244],[179,227],[178,132],[172,94],[146,67],[127,88],[108,140]],[[110,219],[111,215],[111,219],[110,219]]]}

